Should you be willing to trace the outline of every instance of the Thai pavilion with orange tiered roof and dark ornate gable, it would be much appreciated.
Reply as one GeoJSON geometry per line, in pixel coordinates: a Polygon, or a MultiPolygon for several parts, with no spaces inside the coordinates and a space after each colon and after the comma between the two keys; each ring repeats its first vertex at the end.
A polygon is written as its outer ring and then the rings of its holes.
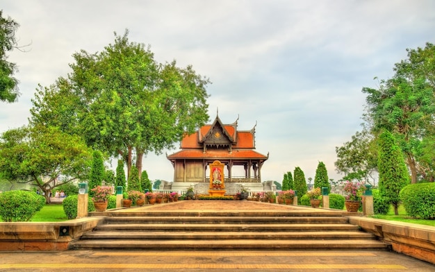
{"type": "Polygon", "coordinates": [[[252,191],[263,191],[261,168],[269,155],[254,151],[256,125],[251,130],[238,130],[237,123],[238,119],[233,124],[222,124],[216,116],[212,124],[183,137],[181,150],[167,155],[174,167],[172,190],[193,185],[197,193],[205,193],[210,164],[219,161],[224,164],[227,194],[235,194],[242,185],[252,191]]]}

